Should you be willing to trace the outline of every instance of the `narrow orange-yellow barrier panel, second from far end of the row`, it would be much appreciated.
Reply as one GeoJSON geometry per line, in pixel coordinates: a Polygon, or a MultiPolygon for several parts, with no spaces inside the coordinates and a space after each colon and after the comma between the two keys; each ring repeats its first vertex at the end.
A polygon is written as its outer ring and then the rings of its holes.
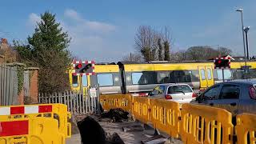
{"type": "Polygon", "coordinates": [[[135,119],[141,122],[150,122],[150,99],[143,97],[133,97],[132,114],[135,119]]]}

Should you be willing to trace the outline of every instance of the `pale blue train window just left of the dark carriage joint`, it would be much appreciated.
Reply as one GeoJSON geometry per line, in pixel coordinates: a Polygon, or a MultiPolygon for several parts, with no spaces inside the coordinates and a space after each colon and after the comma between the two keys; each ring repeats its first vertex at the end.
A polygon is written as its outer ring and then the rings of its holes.
{"type": "Polygon", "coordinates": [[[97,74],[99,86],[113,86],[112,74],[97,74]]]}

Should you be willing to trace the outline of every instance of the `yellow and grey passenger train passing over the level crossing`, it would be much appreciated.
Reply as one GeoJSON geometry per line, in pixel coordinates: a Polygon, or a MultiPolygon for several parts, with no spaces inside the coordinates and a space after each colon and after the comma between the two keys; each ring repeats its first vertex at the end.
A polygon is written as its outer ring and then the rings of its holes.
{"type": "MultiPolygon", "coordinates": [[[[245,77],[242,66],[245,62],[231,62],[230,69],[224,70],[225,80],[245,77]]],[[[250,71],[247,78],[256,78],[256,62],[247,62],[250,71]]],[[[95,75],[75,76],[69,70],[72,90],[86,90],[99,84],[101,94],[140,93],[153,90],[162,83],[187,83],[195,90],[206,89],[216,82],[222,82],[222,70],[214,69],[213,62],[149,62],[97,64],[95,75]]]]}

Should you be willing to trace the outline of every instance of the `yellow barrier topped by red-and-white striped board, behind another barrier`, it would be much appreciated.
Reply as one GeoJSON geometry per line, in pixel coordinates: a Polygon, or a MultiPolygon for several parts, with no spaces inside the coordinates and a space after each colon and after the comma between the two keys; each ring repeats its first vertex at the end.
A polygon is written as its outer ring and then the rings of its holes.
{"type": "Polygon", "coordinates": [[[25,106],[1,106],[0,120],[14,121],[20,118],[47,117],[58,120],[58,130],[65,135],[65,138],[71,137],[71,124],[68,119],[71,118],[67,106],[63,104],[39,104],[25,106]]]}

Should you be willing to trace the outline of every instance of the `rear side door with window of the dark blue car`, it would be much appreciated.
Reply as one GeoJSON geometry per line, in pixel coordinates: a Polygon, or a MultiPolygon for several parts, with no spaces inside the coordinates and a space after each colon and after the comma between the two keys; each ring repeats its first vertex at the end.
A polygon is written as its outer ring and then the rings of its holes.
{"type": "Polygon", "coordinates": [[[214,102],[214,106],[226,109],[232,114],[238,114],[239,97],[241,95],[241,87],[235,84],[223,84],[218,100],[214,102]]]}

